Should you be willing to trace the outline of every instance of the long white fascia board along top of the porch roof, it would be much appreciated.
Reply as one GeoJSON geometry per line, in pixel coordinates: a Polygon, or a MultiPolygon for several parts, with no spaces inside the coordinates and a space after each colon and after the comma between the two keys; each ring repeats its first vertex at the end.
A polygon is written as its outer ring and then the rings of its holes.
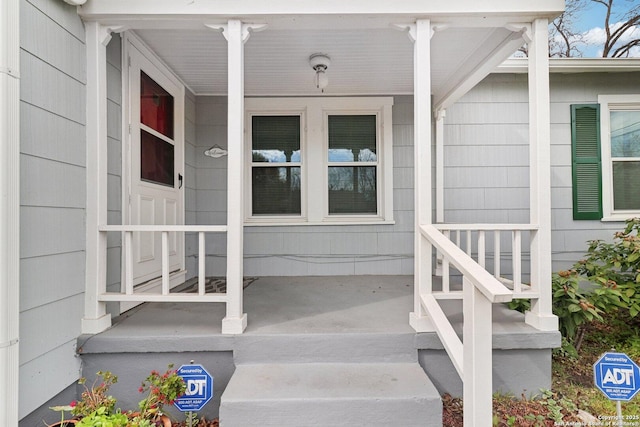
{"type": "MultiPolygon", "coordinates": [[[[328,18],[335,26],[336,19],[350,24],[357,17],[358,24],[389,25],[390,19],[429,17],[432,22],[455,23],[465,26],[494,26],[499,22],[529,22],[534,18],[553,18],[564,10],[563,0],[459,0],[455,2],[424,0],[236,0],[176,2],[175,0],[92,0],[78,8],[84,20],[102,23],[169,19],[197,21],[207,19],[240,19],[243,22],[280,20],[282,25],[300,23],[291,17],[313,16],[328,18]],[[366,19],[363,19],[366,18],[366,19]],[[367,21],[371,21],[368,22],[367,21]]],[[[304,27],[302,27],[304,28],[304,27]]]]}

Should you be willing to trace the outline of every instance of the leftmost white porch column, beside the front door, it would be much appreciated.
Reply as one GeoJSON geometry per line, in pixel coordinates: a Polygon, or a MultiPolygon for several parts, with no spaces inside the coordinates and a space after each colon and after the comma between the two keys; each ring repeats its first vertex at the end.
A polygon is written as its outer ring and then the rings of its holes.
{"type": "Polygon", "coordinates": [[[107,44],[108,28],[85,23],[87,45],[87,211],[85,309],[82,333],[95,334],[111,326],[106,303],[98,295],[107,290],[107,44]]]}

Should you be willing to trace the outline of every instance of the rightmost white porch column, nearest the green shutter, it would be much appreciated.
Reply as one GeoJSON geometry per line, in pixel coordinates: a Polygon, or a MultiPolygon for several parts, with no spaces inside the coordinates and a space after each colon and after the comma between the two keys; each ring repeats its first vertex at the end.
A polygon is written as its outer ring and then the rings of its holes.
{"type": "Polygon", "coordinates": [[[531,286],[540,293],[525,320],[540,330],[558,329],[551,300],[551,114],[548,21],[536,19],[529,42],[530,218],[539,229],[531,238],[531,286]]]}

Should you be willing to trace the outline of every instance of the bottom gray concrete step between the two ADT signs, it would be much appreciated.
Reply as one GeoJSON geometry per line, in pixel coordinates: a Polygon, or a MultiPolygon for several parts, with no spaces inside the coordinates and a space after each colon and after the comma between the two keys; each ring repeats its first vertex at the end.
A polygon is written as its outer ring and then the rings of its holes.
{"type": "Polygon", "coordinates": [[[240,364],[220,424],[441,426],[442,402],[417,363],[240,364]]]}

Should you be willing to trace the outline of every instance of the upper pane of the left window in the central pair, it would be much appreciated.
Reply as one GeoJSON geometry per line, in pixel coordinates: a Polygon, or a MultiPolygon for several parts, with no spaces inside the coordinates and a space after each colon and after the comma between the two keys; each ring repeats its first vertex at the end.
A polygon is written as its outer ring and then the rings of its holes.
{"type": "Polygon", "coordinates": [[[300,162],[300,116],[253,116],[254,162],[300,162]]]}

